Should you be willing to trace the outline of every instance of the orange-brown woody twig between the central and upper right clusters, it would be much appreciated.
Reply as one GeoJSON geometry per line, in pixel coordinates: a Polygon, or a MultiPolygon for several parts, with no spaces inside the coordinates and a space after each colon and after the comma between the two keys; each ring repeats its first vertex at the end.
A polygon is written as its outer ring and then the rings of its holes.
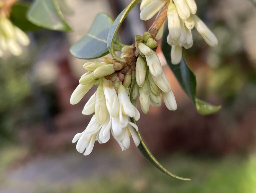
{"type": "Polygon", "coordinates": [[[166,19],[169,3],[170,2],[166,3],[166,5],[163,7],[163,9],[157,15],[154,23],[148,29],[148,32],[153,36],[153,38],[156,37],[159,29],[161,28],[161,26],[163,25],[163,23],[166,19]]]}

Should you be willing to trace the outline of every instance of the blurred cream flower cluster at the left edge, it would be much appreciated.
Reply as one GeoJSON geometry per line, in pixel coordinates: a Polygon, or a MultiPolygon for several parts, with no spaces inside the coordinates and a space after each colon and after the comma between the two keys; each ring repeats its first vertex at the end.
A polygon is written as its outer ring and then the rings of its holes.
{"type": "Polygon", "coordinates": [[[28,36],[5,16],[0,16],[0,57],[3,51],[9,50],[13,55],[20,56],[22,49],[20,45],[29,45],[28,36]]]}

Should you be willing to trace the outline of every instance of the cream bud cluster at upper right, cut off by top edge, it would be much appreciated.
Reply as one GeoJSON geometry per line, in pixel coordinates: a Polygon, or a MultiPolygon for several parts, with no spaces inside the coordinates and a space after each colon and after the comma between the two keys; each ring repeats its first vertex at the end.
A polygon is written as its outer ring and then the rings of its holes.
{"type": "Polygon", "coordinates": [[[218,40],[215,35],[204,22],[195,15],[197,11],[195,0],[142,0],[140,18],[142,20],[151,19],[168,1],[170,1],[170,4],[167,11],[169,29],[167,42],[172,46],[172,64],[180,63],[183,47],[185,49],[192,47],[193,37],[191,30],[194,27],[209,46],[218,45],[218,40]]]}

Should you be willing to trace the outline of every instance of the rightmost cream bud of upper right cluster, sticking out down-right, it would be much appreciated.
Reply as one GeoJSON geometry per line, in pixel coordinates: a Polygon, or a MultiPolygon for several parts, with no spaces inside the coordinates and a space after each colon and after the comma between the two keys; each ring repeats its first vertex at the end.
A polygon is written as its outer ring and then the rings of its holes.
{"type": "Polygon", "coordinates": [[[204,24],[204,22],[199,17],[197,17],[196,15],[193,15],[193,17],[195,20],[195,28],[201,34],[205,42],[209,46],[217,46],[218,40],[215,37],[215,35],[211,32],[211,30],[209,30],[209,28],[204,24]]]}

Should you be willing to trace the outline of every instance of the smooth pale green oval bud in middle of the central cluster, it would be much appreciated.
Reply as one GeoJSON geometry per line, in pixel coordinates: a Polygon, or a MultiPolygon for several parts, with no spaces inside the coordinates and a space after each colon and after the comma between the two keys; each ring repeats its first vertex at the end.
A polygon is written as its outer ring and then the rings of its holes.
{"type": "Polygon", "coordinates": [[[140,55],[136,62],[135,72],[137,85],[142,87],[146,79],[146,65],[144,59],[140,55]]]}

